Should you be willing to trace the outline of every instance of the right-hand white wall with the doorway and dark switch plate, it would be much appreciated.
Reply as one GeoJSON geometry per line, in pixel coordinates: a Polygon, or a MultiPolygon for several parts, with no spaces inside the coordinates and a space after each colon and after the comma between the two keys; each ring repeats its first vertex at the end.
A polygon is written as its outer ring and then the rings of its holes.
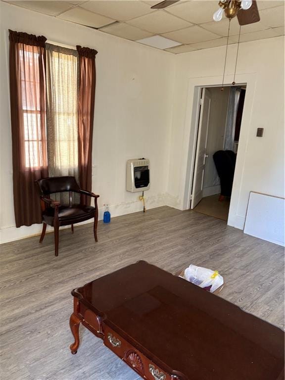
{"type": "MultiPolygon", "coordinates": [[[[236,51],[229,46],[226,84],[233,81],[236,51]]],[[[222,83],[224,57],[225,47],[177,55],[168,192],[180,209],[187,208],[195,86],[222,83]]],[[[228,223],[242,229],[250,191],[284,196],[284,37],[242,43],[237,73],[236,82],[248,87],[228,223]]]]}

